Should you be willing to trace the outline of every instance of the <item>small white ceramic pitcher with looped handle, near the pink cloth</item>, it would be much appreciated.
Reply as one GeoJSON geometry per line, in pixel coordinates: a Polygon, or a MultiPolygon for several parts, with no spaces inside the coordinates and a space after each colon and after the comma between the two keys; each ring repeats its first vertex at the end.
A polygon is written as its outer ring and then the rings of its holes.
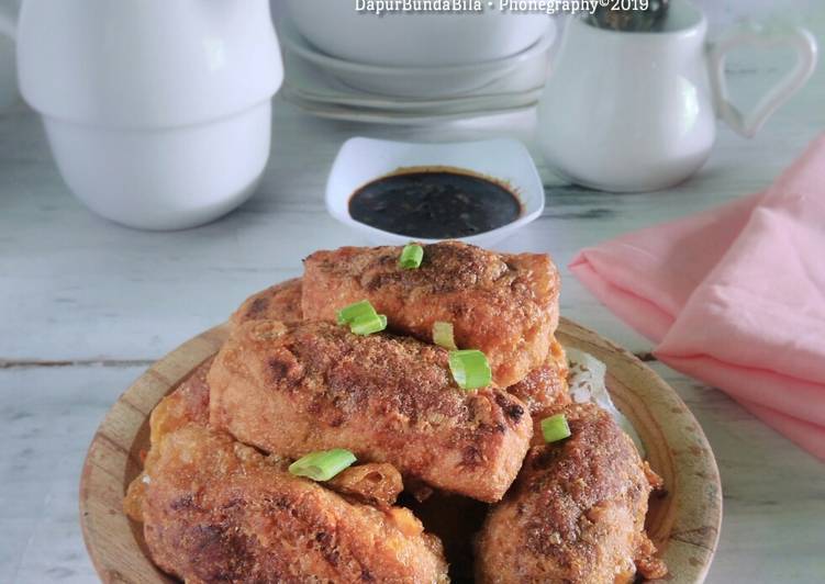
{"type": "Polygon", "coordinates": [[[718,115],[751,137],[816,65],[816,42],[798,27],[742,24],[707,44],[701,10],[672,0],[660,32],[567,24],[538,109],[548,164],[578,184],[650,191],[690,177],[706,160],[718,115]],[[756,108],[740,112],[725,87],[725,56],[739,46],[790,46],[792,71],[756,108]]]}

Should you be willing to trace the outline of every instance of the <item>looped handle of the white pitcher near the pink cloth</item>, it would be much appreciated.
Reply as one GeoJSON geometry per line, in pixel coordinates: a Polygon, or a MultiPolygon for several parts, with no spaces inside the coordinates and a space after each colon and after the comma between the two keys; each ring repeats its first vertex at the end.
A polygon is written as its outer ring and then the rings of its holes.
{"type": "Polygon", "coordinates": [[[768,117],[805,85],[816,67],[816,40],[800,26],[763,26],[746,22],[727,31],[709,47],[707,53],[711,86],[720,117],[737,134],[752,138],[768,117]],[[725,80],[725,58],[742,45],[768,48],[790,46],[796,53],[793,69],[746,113],[728,99],[725,80]]]}

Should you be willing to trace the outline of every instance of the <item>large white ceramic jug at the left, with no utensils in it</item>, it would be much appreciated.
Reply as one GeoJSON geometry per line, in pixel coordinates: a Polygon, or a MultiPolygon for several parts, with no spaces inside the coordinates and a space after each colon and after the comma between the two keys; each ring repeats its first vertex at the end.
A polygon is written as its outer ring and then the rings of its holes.
{"type": "Polygon", "coordinates": [[[254,191],[283,77],[268,0],[24,0],[15,32],[21,93],[93,211],[175,229],[254,191]]]}

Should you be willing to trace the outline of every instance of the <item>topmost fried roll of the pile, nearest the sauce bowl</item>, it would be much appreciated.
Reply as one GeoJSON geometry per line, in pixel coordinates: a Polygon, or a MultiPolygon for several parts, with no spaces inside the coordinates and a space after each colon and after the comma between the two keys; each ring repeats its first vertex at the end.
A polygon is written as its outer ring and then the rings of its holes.
{"type": "Polygon", "coordinates": [[[558,325],[559,276],[549,256],[497,254],[459,242],[426,245],[417,269],[399,267],[401,247],[343,247],[304,260],[303,314],[335,321],[369,300],[391,330],[432,342],[436,322],[456,345],[487,355],[505,388],[543,364],[558,325]]]}

